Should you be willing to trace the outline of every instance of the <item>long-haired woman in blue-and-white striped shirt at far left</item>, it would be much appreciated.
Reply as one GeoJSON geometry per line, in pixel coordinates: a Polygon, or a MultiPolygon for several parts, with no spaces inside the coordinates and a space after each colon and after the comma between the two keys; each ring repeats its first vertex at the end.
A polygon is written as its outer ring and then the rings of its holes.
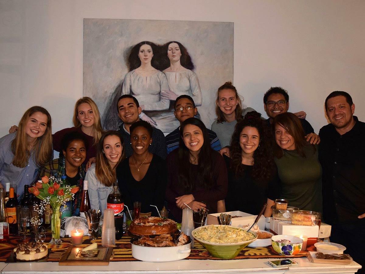
{"type": "Polygon", "coordinates": [[[17,128],[0,138],[0,182],[1,187],[10,183],[21,197],[24,185],[31,185],[52,159],[51,116],[43,107],[31,107],[17,128]]]}

